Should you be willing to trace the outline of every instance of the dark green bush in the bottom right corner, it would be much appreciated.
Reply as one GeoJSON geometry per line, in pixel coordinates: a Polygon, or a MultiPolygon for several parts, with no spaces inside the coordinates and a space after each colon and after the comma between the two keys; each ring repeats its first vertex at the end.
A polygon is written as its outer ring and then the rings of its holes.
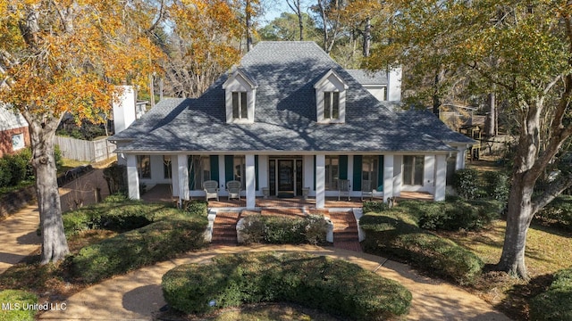
{"type": "Polygon", "coordinates": [[[539,321],[572,320],[572,268],[559,270],[548,291],[530,301],[530,318],[539,321]]]}

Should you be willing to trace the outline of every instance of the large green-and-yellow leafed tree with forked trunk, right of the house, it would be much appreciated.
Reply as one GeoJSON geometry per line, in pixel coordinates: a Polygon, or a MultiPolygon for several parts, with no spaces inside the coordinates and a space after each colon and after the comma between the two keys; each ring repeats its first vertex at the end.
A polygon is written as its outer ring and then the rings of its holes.
{"type": "MultiPolygon", "coordinates": [[[[527,278],[526,233],[534,214],[572,185],[572,1],[392,0],[392,41],[370,66],[415,62],[416,73],[465,73],[474,94],[495,93],[515,117],[517,145],[507,229],[497,268],[527,278]],[[545,173],[554,176],[541,192],[545,173]]],[[[453,82],[442,82],[450,88],[453,82]]]]}

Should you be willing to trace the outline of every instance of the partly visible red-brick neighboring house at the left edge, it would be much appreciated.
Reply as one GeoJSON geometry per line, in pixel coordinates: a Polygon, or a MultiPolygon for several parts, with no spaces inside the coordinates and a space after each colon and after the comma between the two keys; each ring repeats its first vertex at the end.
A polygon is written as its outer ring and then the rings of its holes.
{"type": "Polygon", "coordinates": [[[0,103],[0,157],[29,146],[28,122],[0,103]]]}

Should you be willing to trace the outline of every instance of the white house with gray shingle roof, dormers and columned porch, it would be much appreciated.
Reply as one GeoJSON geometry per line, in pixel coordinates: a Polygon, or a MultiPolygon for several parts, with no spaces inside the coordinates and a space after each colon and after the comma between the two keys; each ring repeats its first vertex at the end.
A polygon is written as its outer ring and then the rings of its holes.
{"type": "Polygon", "coordinates": [[[222,190],[240,180],[249,209],[263,189],[303,188],[324,208],[338,179],[349,179],[353,196],[367,180],[383,200],[402,191],[443,200],[448,157],[462,169],[474,142],[432,115],[391,111],[397,105],[376,99],[313,42],[261,42],[205,94],[164,99],[109,139],[133,199],[141,184],[172,184],[187,200],[204,195],[206,180],[222,190]]]}

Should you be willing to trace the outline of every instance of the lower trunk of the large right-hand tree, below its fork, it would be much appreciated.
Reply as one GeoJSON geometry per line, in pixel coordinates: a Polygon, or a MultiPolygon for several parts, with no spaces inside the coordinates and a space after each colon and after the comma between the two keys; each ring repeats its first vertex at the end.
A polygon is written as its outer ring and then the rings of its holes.
{"type": "Polygon", "coordinates": [[[512,177],[507,212],[507,230],[504,235],[501,259],[497,269],[511,276],[528,278],[525,264],[526,234],[534,216],[532,194],[534,181],[526,174],[512,177]]]}

